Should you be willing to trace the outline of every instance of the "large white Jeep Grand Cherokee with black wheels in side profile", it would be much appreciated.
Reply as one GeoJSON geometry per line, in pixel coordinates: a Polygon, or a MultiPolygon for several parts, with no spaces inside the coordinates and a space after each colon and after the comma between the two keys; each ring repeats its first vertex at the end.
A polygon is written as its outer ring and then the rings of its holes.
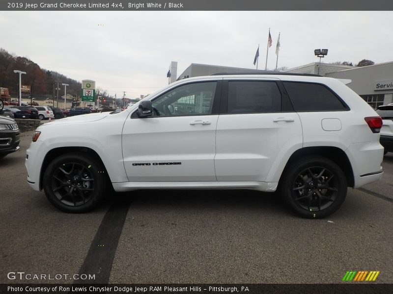
{"type": "Polygon", "coordinates": [[[334,78],[300,74],[183,79],[122,112],[39,126],[28,183],[58,209],[91,210],[111,186],[279,189],[300,216],[335,212],[347,187],[382,176],[381,118],[334,78]]]}

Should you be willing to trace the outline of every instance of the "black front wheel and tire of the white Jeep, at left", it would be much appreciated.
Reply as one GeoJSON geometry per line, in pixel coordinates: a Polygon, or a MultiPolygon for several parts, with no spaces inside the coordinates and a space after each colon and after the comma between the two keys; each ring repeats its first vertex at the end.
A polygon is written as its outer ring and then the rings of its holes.
{"type": "Polygon", "coordinates": [[[67,213],[84,213],[104,198],[108,177],[103,165],[84,152],[55,158],[44,173],[44,191],[49,201],[67,213]]]}

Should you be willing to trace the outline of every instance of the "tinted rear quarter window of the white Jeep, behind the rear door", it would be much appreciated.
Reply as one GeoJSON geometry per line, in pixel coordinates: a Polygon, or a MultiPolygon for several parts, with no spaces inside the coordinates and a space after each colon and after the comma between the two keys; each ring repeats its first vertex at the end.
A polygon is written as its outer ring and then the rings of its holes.
{"type": "Polygon", "coordinates": [[[316,83],[283,82],[295,111],[349,110],[328,87],[316,83]]]}

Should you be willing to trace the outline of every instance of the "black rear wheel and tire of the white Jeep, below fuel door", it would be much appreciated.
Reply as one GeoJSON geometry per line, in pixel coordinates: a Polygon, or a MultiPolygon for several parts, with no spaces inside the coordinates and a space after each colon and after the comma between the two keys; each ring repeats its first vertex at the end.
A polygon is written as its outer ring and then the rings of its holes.
{"type": "Polygon", "coordinates": [[[308,156],[285,168],[281,196],[299,216],[322,219],[330,216],[345,200],[347,181],[340,167],[330,159],[308,156]]]}

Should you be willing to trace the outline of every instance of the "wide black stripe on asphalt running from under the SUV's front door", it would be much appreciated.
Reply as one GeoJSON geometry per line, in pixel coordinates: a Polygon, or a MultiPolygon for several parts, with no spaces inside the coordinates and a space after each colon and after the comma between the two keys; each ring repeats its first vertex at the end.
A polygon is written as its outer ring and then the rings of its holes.
{"type": "Polygon", "coordinates": [[[82,274],[95,274],[95,280],[75,280],[75,284],[107,284],[117,245],[130,208],[132,197],[117,197],[105,214],[90,245],[84,263],[79,270],[82,274]]]}

